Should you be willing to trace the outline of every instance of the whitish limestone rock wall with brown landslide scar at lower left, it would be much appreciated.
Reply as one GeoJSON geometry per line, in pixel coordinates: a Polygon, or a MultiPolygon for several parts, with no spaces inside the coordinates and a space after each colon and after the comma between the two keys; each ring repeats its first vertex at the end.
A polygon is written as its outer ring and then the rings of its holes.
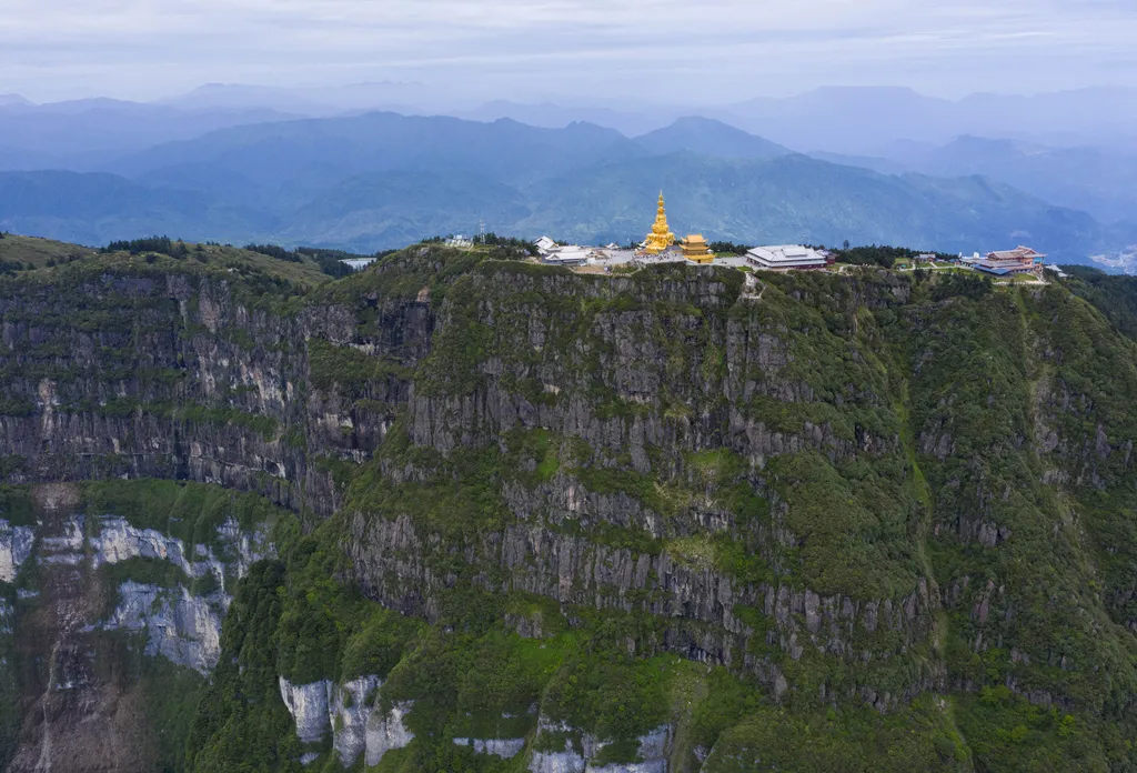
{"type": "Polygon", "coordinates": [[[121,740],[144,733],[148,717],[116,648],[209,676],[233,583],[274,548],[264,527],[244,530],[233,518],[209,545],[186,545],[122,516],[83,512],[72,484],[40,485],[31,496],[33,523],[0,526],[8,559],[0,581],[15,585],[15,604],[6,599],[0,609],[0,637],[8,638],[0,649],[3,666],[19,674],[9,698],[19,722],[8,770],[148,770],[149,747],[121,740]]]}

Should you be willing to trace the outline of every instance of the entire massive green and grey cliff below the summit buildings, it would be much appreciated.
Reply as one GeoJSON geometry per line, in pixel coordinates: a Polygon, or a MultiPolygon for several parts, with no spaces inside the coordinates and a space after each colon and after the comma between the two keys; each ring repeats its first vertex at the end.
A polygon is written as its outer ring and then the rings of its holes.
{"type": "Polygon", "coordinates": [[[9,643],[142,664],[13,671],[13,770],[128,726],[158,662],[200,700],[176,753],[75,770],[1137,764],[1137,344],[1070,289],[426,247],[271,279],[0,280],[9,643]]]}

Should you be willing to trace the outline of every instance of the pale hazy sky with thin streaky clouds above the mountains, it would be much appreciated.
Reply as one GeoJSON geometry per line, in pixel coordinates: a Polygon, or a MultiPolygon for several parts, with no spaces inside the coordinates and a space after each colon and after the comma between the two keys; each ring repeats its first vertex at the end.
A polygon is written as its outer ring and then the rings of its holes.
{"type": "Polygon", "coordinates": [[[1135,0],[3,0],[0,93],[416,81],[467,98],[719,103],[1137,83],[1135,0]]]}

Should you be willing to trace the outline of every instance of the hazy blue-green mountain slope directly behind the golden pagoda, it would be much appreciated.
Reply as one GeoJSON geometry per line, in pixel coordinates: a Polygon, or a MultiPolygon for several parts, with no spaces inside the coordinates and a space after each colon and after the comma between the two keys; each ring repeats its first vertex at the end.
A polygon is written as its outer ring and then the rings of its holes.
{"type": "Polygon", "coordinates": [[[557,181],[550,200],[520,228],[579,239],[641,238],[642,201],[659,188],[677,232],[744,243],[840,244],[848,239],[970,255],[1031,242],[1078,261],[1105,238],[1087,215],[979,177],[894,177],[805,156],[746,161],[690,153],[557,181]]]}

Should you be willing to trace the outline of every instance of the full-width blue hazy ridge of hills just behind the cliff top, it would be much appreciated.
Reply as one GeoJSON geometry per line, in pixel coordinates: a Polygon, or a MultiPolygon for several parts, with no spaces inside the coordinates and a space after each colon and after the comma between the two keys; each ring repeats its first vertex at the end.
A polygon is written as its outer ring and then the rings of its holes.
{"type": "Polygon", "coordinates": [[[82,243],[151,233],[374,251],[489,230],[638,240],[663,189],[677,227],[754,243],[1030,242],[1065,263],[1118,255],[1137,224],[980,175],[885,174],[794,153],[698,117],[638,138],[586,123],[371,113],[232,126],[94,172],[0,173],[0,228],[82,243]]]}

